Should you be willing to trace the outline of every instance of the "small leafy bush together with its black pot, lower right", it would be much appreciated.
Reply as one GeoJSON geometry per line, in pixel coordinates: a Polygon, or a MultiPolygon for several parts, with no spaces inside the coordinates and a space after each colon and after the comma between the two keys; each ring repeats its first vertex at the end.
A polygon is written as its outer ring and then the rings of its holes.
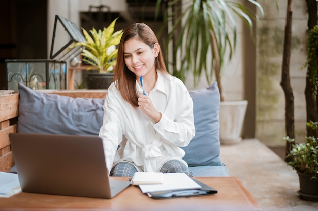
{"type": "MultiPolygon", "coordinates": [[[[307,129],[316,130],[318,122],[308,122],[307,129]]],[[[285,137],[285,140],[294,143],[294,139],[285,137]]],[[[293,144],[287,157],[291,161],[287,164],[297,171],[299,177],[300,198],[318,201],[318,142],[316,137],[307,136],[305,142],[293,144]]]]}

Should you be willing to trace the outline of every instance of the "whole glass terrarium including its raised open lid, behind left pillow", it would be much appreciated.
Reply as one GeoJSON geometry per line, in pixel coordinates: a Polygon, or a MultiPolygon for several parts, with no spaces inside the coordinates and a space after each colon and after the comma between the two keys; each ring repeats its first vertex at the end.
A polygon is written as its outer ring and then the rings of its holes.
{"type": "Polygon", "coordinates": [[[50,59],[5,60],[6,89],[18,90],[18,82],[32,89],[67,89],[67,62],[82,51],[81,46],[69,47],[84,40],[75,23],[56,15],[50,59]]]}

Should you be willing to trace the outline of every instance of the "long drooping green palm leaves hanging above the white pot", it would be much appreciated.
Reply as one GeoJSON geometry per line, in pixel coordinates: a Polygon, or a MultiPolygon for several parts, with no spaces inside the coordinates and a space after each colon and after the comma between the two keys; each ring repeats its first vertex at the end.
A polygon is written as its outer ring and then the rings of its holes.
{"type": "MultiPolygon", "coordinates": [[[[248,0],[261,10],[259,3],[248,0]]],[[[163,0],[157,0],[156,14],[163,0]]],[[[208,83],[213,72],[218,82],[221,101],[221,68],[226,55],[232,57],[237,43],[237,27],[234,14],[241,18],[252,33],[253,19],[256,15],[246,6],[227,0],[170,0],[167,2],[164,26],[171,24],[168,31],[166,49],[173,43],[172,70],[169,72],[184,81],[185,73],[191,71],[196,85],[201,74],[205,74],[208,83]],[[230,32],[233,37],[231,38],[230,32]],[[182,52],[182,54],[180,53],[182,52]],[[212,55],[212,56],[211,56],[212,55]],[[180,65],[178,67],[178,62],[180,65]]],[[[168,51],[166,53],[169,53],[168,51]]],[[[166,58],[169,58],[166,55],[166,58]]]]}

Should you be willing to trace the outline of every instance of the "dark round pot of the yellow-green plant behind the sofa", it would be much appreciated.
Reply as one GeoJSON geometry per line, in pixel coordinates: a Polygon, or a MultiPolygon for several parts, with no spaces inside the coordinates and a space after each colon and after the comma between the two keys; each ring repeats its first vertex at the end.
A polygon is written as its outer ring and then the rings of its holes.
{"type": "Polygon", "coordinates": [[[114,81],[114,73],[86,73],[86,86],[90,90],[107,90],[114,81]]]}

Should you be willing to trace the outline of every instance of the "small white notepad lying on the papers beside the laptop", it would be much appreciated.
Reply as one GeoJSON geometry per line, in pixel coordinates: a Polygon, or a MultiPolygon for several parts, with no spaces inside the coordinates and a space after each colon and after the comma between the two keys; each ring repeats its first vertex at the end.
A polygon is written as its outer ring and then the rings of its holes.
{"type": "Polygon", "coordinates": [[[162,184],[164,174],[162,172],[136,172],[132,178],[132,185],[162,184]]]}

